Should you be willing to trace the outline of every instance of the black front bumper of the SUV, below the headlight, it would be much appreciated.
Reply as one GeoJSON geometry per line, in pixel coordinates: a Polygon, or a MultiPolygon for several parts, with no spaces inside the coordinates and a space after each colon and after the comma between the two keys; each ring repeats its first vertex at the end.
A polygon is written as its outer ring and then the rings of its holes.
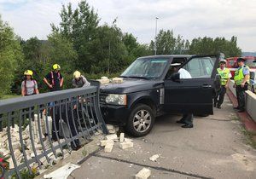
{"type": "Polygon", "coordinates": [[[130,114],[130,110],[127,107],[108,104],[100,104],[100,106],[106,123],[126,124],[130,114]]]}

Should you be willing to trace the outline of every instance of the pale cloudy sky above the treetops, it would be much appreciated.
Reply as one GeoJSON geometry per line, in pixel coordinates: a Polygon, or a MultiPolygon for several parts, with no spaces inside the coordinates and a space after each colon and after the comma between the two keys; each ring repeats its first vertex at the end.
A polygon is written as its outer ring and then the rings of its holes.
{"type": "MultiPolygon", "coordinates": [[[[131,32],[140,43],[157,31],[172,30],[184,39],[236,36],[242,51],[256,52],[256,0],[87,0],[101,18],[131,32]]],[[[50,23],[59,24],[62,4],[79,0],[0,0],[0,14],[21,38],[47,39],[50,23]]]]}

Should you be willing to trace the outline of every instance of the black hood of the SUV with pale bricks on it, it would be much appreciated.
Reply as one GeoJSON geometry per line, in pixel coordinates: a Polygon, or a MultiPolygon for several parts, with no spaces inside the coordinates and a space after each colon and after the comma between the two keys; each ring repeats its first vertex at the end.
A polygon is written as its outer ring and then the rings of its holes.
{"type": "Polygon", "coordinates": [[[160,81],[146,80],[146,79],[124,79],[121,84],[107,84],[101,85],[101,93],[108,94],[127,94],[138,92],[142,90],[151,90],[159,86],[160,81]]]}

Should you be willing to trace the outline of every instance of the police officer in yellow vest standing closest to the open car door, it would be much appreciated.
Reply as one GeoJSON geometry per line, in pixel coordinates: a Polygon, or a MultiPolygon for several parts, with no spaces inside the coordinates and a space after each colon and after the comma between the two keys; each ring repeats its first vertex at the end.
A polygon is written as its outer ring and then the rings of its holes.
{"type": "Polygon", "coordinates": [[[226,68],[226,63],[227,61],[222,59],[219,62],[219,68],[217,69],[218,74],[221,77],[221,90],[220,93],[214,98],[214,107],[218,107],[219,109],[221,108],[220,106],[222,105],[224,101],[224,95],[226,93],[226,90],[229,86],[230,83],[230,78],[232,77],[230,69],[226,68]]]}

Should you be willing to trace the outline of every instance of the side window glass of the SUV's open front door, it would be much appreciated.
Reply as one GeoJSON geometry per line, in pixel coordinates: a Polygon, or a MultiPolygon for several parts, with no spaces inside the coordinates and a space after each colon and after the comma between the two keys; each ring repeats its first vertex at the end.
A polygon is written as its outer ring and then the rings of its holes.
{"type": "Polygon", "coordinates": [[[199,57],[190,60],[185,66],[192,78],[211,78],[216,59],[210,57],[199,57]]]}

